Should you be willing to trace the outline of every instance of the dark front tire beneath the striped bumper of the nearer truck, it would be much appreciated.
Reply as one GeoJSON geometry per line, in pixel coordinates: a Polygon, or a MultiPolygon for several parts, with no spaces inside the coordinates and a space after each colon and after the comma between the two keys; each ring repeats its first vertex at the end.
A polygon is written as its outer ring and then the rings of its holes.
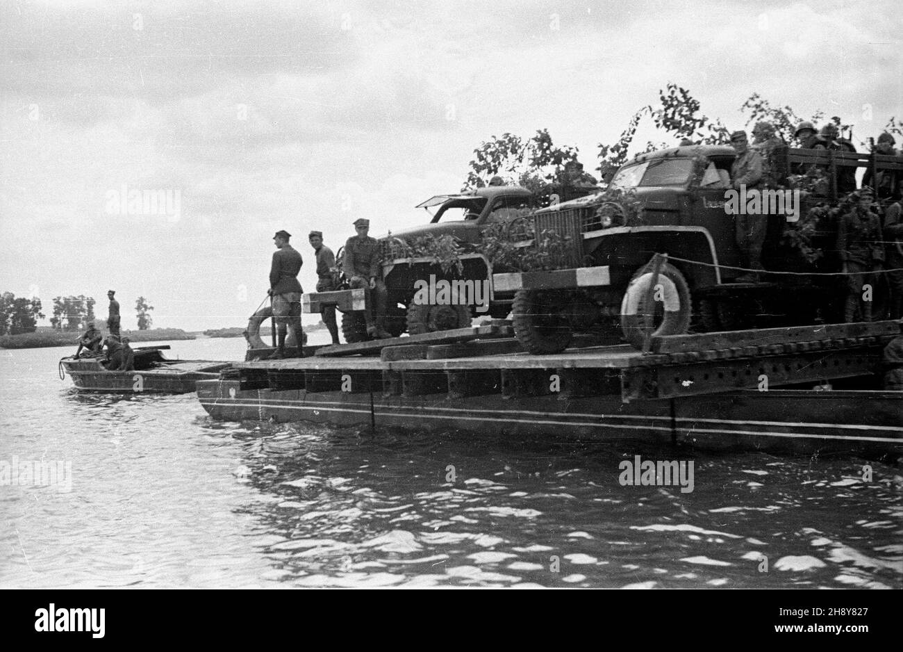
{"type": "Polygon", "coordinates": [[[561,310],[562,293],[518,290],[511,321],[517,340],[534,355],[560,353],[573,338],[570,321],[561,310]]]}

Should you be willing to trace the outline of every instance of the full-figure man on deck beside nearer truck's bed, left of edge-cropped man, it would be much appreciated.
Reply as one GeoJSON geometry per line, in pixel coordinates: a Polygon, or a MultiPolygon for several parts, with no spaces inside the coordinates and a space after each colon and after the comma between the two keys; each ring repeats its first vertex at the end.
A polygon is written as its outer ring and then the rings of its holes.
{"type": "Polygon", "coordinates": [[[837,251],[842,260],[842,272],[846,277],[846,300],[843,303],[843,321],[850,323],[856,316],[861,299],[862,321],[871,321],[871,296],[863,297],[864,284],[874,288],[874,274],[884,261],[881,223],[871,212],[870,188],[859,191],[859,204],[844,215],[837,224],[837,251]]]}

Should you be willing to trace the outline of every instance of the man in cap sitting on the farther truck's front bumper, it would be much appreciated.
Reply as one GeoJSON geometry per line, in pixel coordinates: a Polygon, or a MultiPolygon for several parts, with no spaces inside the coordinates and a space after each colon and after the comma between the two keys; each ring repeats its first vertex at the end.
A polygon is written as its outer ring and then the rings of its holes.
{"type": "Polygon", "coordinates": [[[348,238],[345,243],[345,259],[342,267],[349,277],[352,288],[363,288],[367,297],[367,310],[364,319],[367,321],[367,332],[377,339],[391,338],[386,332],[386,284],[380,274],[381,256],[376,238],[370,238],[369,219],[354,220],[357,236],[348,238]],[[372,311],[372,312],[371,312],[372,311]]]}

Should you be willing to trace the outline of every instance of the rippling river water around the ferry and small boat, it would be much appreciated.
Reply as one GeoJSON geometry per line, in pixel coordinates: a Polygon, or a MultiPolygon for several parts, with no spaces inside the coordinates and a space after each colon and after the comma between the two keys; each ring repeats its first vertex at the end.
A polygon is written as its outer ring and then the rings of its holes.
{"type": "Polygon", "coordinates": [[[903,588],[897,465],[221,423],[193,394],[80,395],[69,353],[0,349],[2,587],[903,588]],[[693,491],[621,486],[637,454],[694,461],[693,491]]]}

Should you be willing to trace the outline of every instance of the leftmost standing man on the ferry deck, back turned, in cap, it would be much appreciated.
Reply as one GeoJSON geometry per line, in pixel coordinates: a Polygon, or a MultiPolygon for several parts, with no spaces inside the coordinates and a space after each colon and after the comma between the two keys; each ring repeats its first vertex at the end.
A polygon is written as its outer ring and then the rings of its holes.
{"type": "Polygon", "coordinates": [[[273,265],[270,267],[270,289],[267,293],[273,297],[273,321],[276,325],[276,349],[270,359],[285,357],[285,337],[287,330],[292,329],[294,340],[298,344],[297,357],[303,358],[304,334],[301,325],[301,284],[298,273],[303,260],[301,254],[288,244],[292,237],[288,231],[276,231],[273,240],[276,246],[273,252],[273,265]]]}

